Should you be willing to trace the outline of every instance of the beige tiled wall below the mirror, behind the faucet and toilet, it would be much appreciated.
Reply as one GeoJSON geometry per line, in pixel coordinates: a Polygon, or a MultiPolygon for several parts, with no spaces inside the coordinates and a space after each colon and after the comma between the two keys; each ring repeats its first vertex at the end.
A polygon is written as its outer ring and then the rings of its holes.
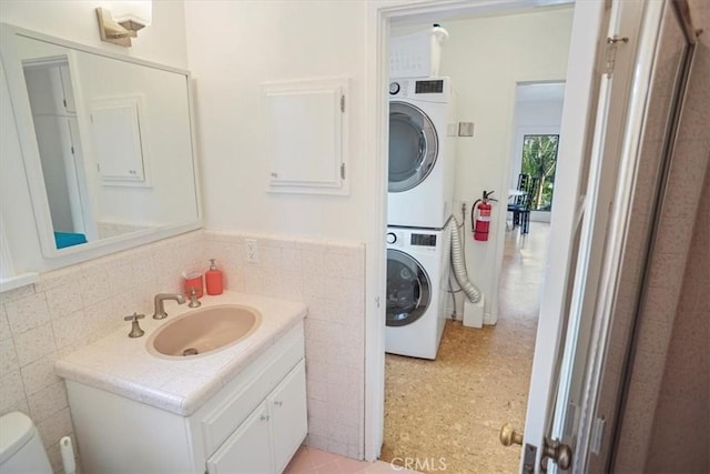
{"type": "Polygon", "coordinates": [[[202,231],[191,232],[43,273],[39,283],[0,293],[0,414],[32,417],[54,472],[61,471],[59,440],[73,432],[54,361],[118,327],[128,332],[124,315],[150,316],[151,296],[178,291],[181,272],[203,262],[203,249],[202,231]]]}

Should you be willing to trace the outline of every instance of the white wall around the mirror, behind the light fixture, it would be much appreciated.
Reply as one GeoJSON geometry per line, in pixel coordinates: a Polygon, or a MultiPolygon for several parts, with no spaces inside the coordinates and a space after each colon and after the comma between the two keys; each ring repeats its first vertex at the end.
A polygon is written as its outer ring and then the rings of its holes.
{"type": "MultiPolygon", "coordinates": [[[[102,42],[94,9],[108,1],[0,2],[0,22],[176,68],[187,67],[184,9],[182,0],[153,2],[153,24],[143,29],[132,48],[102,42]]],[[[0,84],[0,205],[4,232],[16,271],[42,271],[55,266],[41,254],[27,175],[14,127],[12,107],[2,73],[0,84]]]]}

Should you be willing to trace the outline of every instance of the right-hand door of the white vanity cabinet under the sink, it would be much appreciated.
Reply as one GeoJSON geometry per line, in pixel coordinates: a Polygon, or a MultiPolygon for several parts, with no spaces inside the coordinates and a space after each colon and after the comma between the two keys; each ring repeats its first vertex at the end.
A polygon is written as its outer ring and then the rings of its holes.
{"type": "Polygon", "coordinates": [[[302,360],[266,399],[272,414],[274,466],[283,472],[308,431],[306,372],[302,360]]]}

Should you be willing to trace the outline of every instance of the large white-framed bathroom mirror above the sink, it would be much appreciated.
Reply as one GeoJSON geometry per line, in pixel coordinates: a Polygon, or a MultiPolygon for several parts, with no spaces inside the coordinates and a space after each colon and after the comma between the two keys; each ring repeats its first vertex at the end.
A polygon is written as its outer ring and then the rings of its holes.
{"type": "Polygon", "coordinates": [[[44,256],[199,228],[189,72],[7,24],[0,53],[44,256]]]}

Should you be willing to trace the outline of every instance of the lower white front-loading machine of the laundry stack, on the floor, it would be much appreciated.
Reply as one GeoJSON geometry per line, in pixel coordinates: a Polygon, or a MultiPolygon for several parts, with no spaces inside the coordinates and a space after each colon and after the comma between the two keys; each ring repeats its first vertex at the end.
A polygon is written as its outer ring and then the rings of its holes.
{"type": "Polygon", "coordinates": [[[385,352],[436,359],[449,295],[450,229],[387,228],[385,352]]]}

